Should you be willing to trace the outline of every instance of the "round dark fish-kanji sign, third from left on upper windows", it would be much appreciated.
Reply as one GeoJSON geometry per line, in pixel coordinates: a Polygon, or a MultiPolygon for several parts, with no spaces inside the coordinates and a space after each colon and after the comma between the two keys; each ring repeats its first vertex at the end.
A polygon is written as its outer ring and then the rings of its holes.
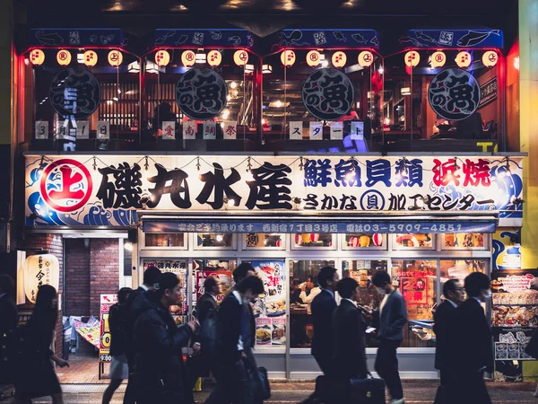
{"type": "Polygon", "coordinates": [[[319,69],[303,84],[302,100],[317,119],[334,120],[350,112],[355,92],[349,77],[340,70],[319,69]]]}

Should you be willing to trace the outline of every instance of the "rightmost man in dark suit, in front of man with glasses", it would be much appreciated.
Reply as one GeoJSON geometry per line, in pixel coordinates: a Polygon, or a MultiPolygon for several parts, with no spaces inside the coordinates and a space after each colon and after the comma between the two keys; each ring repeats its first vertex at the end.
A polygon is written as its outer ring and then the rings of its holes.
{"type": "Polygon", "coordinates": [[[458,404],[490,404],[484,372],[493,372],[493,348],[482,303],[491,297],[490,278],[481,272],[465,277],[467,300],[455,312],[457,329],[452,356],[457,366],[458,404]]]}

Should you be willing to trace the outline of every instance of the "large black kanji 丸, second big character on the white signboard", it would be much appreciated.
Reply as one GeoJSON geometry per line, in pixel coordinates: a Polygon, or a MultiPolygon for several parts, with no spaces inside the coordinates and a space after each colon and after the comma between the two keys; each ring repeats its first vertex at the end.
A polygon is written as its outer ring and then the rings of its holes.
{"type": "Polygon", "coordinates": [[[148,202],[149,207],[159,205],[161,197],[164,194],[169,194],[172,203],[182,209],[188,209],[192,206],[187,183],[187,172],[179,169],[168,171],[161,164],[155,164],[157,175],[148,180],[155,184],[155,188],[148,189],[152,198],[148,202]],[[171,181],[170,185],[166,185],[171,181]]]}

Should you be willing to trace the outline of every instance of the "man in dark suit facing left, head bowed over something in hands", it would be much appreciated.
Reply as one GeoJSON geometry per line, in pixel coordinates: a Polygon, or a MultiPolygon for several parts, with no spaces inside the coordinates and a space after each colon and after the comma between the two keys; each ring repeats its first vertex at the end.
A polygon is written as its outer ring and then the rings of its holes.
{"type": "Polygon", "coordinates": [[[396,350],[404,339],[404,325],[407,322],[407,308],[404,297],[392,285],[390,275],[386,271],[377,271],[372,277],[377,292],[383,294],[379,306],[379,347],[377,348],[374,367],[377,374],[385,380],[392,398],[391,404],[404,404],[404,390],[396,350]]]}

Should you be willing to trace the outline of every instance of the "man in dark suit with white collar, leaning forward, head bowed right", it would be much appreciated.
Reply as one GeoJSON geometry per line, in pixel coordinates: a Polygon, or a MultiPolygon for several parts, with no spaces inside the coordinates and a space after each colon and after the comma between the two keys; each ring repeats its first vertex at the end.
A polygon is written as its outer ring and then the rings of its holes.
{"type": "Polygon", "coordinates": [[[205,404],[256,403],[249,367],[255,368],[252,354],[253,332],[246,312],[248,303],[264,294],[259,277],[245,277],[227,294],[217,314],[217,354],[215,378],[217,387],[205,404]]]}

